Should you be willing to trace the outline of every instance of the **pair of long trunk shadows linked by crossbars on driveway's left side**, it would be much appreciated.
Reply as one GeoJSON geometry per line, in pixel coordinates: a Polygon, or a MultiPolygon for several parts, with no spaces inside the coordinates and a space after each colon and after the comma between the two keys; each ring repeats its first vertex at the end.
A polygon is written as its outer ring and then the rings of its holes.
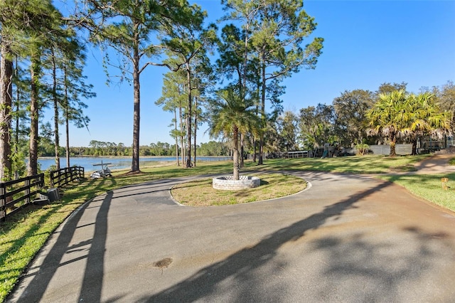
{"type": "Polygon", "coordinates": [[[85,257],[87,257],[87,268],[85,270],[81,294],[90,294],[90,297],[98,298],[94,300],[90,299],[87,302],[100,302],[105,243],[107,237],[107,212],[109,211],[109,205],[112,201],[112,194],[112,191],[109,191],[107,196],[102,201],[100,210],[97,213],[97,220],[95,221],[95,235],[93,239],[89,241],[89,243],[86,241],[84,243],[77,243],[70,246],[70,241],[73,238],[75,230],[77,230],[77,223],[79,223],[82,218],[87,206],[90,206],[90,203],[85,203],[77,212],[73,213],[72,217],[70,217],[67,223],[65,223],[55,244],[45,256],[41,268],[39,268],[39,271],[34,274],[33,279],[28,283],[27,288],[23,289],[21,296],[16,300],[11,297],[14,296],[14,292],[12,292],[8,297],[7,302],[10,302],[10,300],[11,302],[40,301],[45,293],[45,290],[48,288],[50,280],[52,280],[53,275],[55,275],[55,272],[59,267],[67,265],[71,262],[76,262],[85,257]],[[66,253],[75,251],[78,248],[90,243],[90,251],[87,256],[77,257],[67,262],[61,262],[66,253]]]}

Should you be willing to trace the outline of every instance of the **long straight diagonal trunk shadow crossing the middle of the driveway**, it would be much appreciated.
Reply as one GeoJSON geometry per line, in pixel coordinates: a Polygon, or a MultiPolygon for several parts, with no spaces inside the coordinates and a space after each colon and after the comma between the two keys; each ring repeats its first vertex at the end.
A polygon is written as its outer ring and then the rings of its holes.
{"type": "Polygon", "coordinates": [[[255,285],[253,273],[272,262],[282,245],[303,237],[308,230],[319,228],[329,218],[340,216],[344,211],[353,208],[353,204],[366,196],[390,186],[384,182],[362,193],[349,196],[343,201],[327,206],[320,213],[315,213],[304,220],[300,220],[287,228],[282,228],[261,240],[257,245],[244,248],[225,260],[204,267],[195,275],[183,282],[179,282],[151,297],[144,297],[140,302],[194,302],[199,299],[208,299],[223,286],[223,282],[235,280],[237,298],[230,297],[230,302],[273,302],[279,297],[271,299],[273,290],[262,292],[259,285],[255,285]],[[255,289],[255,287],[257,289],[255,289]]]}

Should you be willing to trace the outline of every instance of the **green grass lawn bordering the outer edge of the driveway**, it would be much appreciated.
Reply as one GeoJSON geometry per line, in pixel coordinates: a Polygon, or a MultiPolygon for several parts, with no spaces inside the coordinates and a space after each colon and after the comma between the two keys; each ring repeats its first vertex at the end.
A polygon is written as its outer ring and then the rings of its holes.
{"type": "MultiPolygon", "coordinates": [[[[243,171],[257,173],[280,170],[333,171],[349,174],[387,174],[390,172],[412,171],[414,163],[424,156],[349,156],[327,159],[264,159],[264,165],[257,166],[247,161],[243,171]]],[[[30,206],[16,216],[8,218],[0,225],[0,302],[11,292],[14,284],[36,252],[55,228],[77,207],[90,198],[106,193],[114,188],[140,184],[156,179],[203,174],[232,174],[232,162],[203,163],[191,169],[164,166],[143,169],[140,174],[114,172],[112,178],[82,181],[64,189],[62,201],[47,206],[30,206]]],[[[250,174],[250,173],[249,173],[250,174]]],[[[379,175],[378,175],[379,176],[379,175]]],[[[449,191],[441,189],[441,175],[380,175],[402,186],[417,196],[432,203],[455,211],[455,174],[444,175],[449,178],[449,191]]],[[[277,191],[277,188],[274,189],[277,191]]],[[[286,194],[286,193],[283,193],[286,194]]],[[[261,196],[255,199],[261,199],[261,196]]],[[[232,200],[232,199],[231,199],[232,200]]]]}

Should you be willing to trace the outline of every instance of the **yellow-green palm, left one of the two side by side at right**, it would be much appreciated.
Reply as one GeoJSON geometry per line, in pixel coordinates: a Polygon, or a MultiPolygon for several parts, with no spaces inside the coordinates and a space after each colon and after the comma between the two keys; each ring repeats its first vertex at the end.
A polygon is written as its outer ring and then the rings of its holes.
{"type": "Polygon", "coordinates": [[[390,142],[390,156],[396,156],[395,144],[410,124],[405,90],[380,94],[378,102],[367,112],[368,135],[382,134],[390,142]]]}

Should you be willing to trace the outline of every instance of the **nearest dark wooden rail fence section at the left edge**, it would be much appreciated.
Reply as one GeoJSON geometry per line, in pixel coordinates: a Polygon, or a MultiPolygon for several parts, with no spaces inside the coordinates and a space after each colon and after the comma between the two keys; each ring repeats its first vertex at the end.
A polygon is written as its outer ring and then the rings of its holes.
{"type": "Polygon", "coordinates": [[[0,221],[31,204],[31,198],[35,197],[43,186],[44,174],[0,183],[0,221]],[[25,202],[17,207],[16,205],[22,201],[25,202]],[[9,213],[6,213],[7,208],[11,208],[9,213]]]}

